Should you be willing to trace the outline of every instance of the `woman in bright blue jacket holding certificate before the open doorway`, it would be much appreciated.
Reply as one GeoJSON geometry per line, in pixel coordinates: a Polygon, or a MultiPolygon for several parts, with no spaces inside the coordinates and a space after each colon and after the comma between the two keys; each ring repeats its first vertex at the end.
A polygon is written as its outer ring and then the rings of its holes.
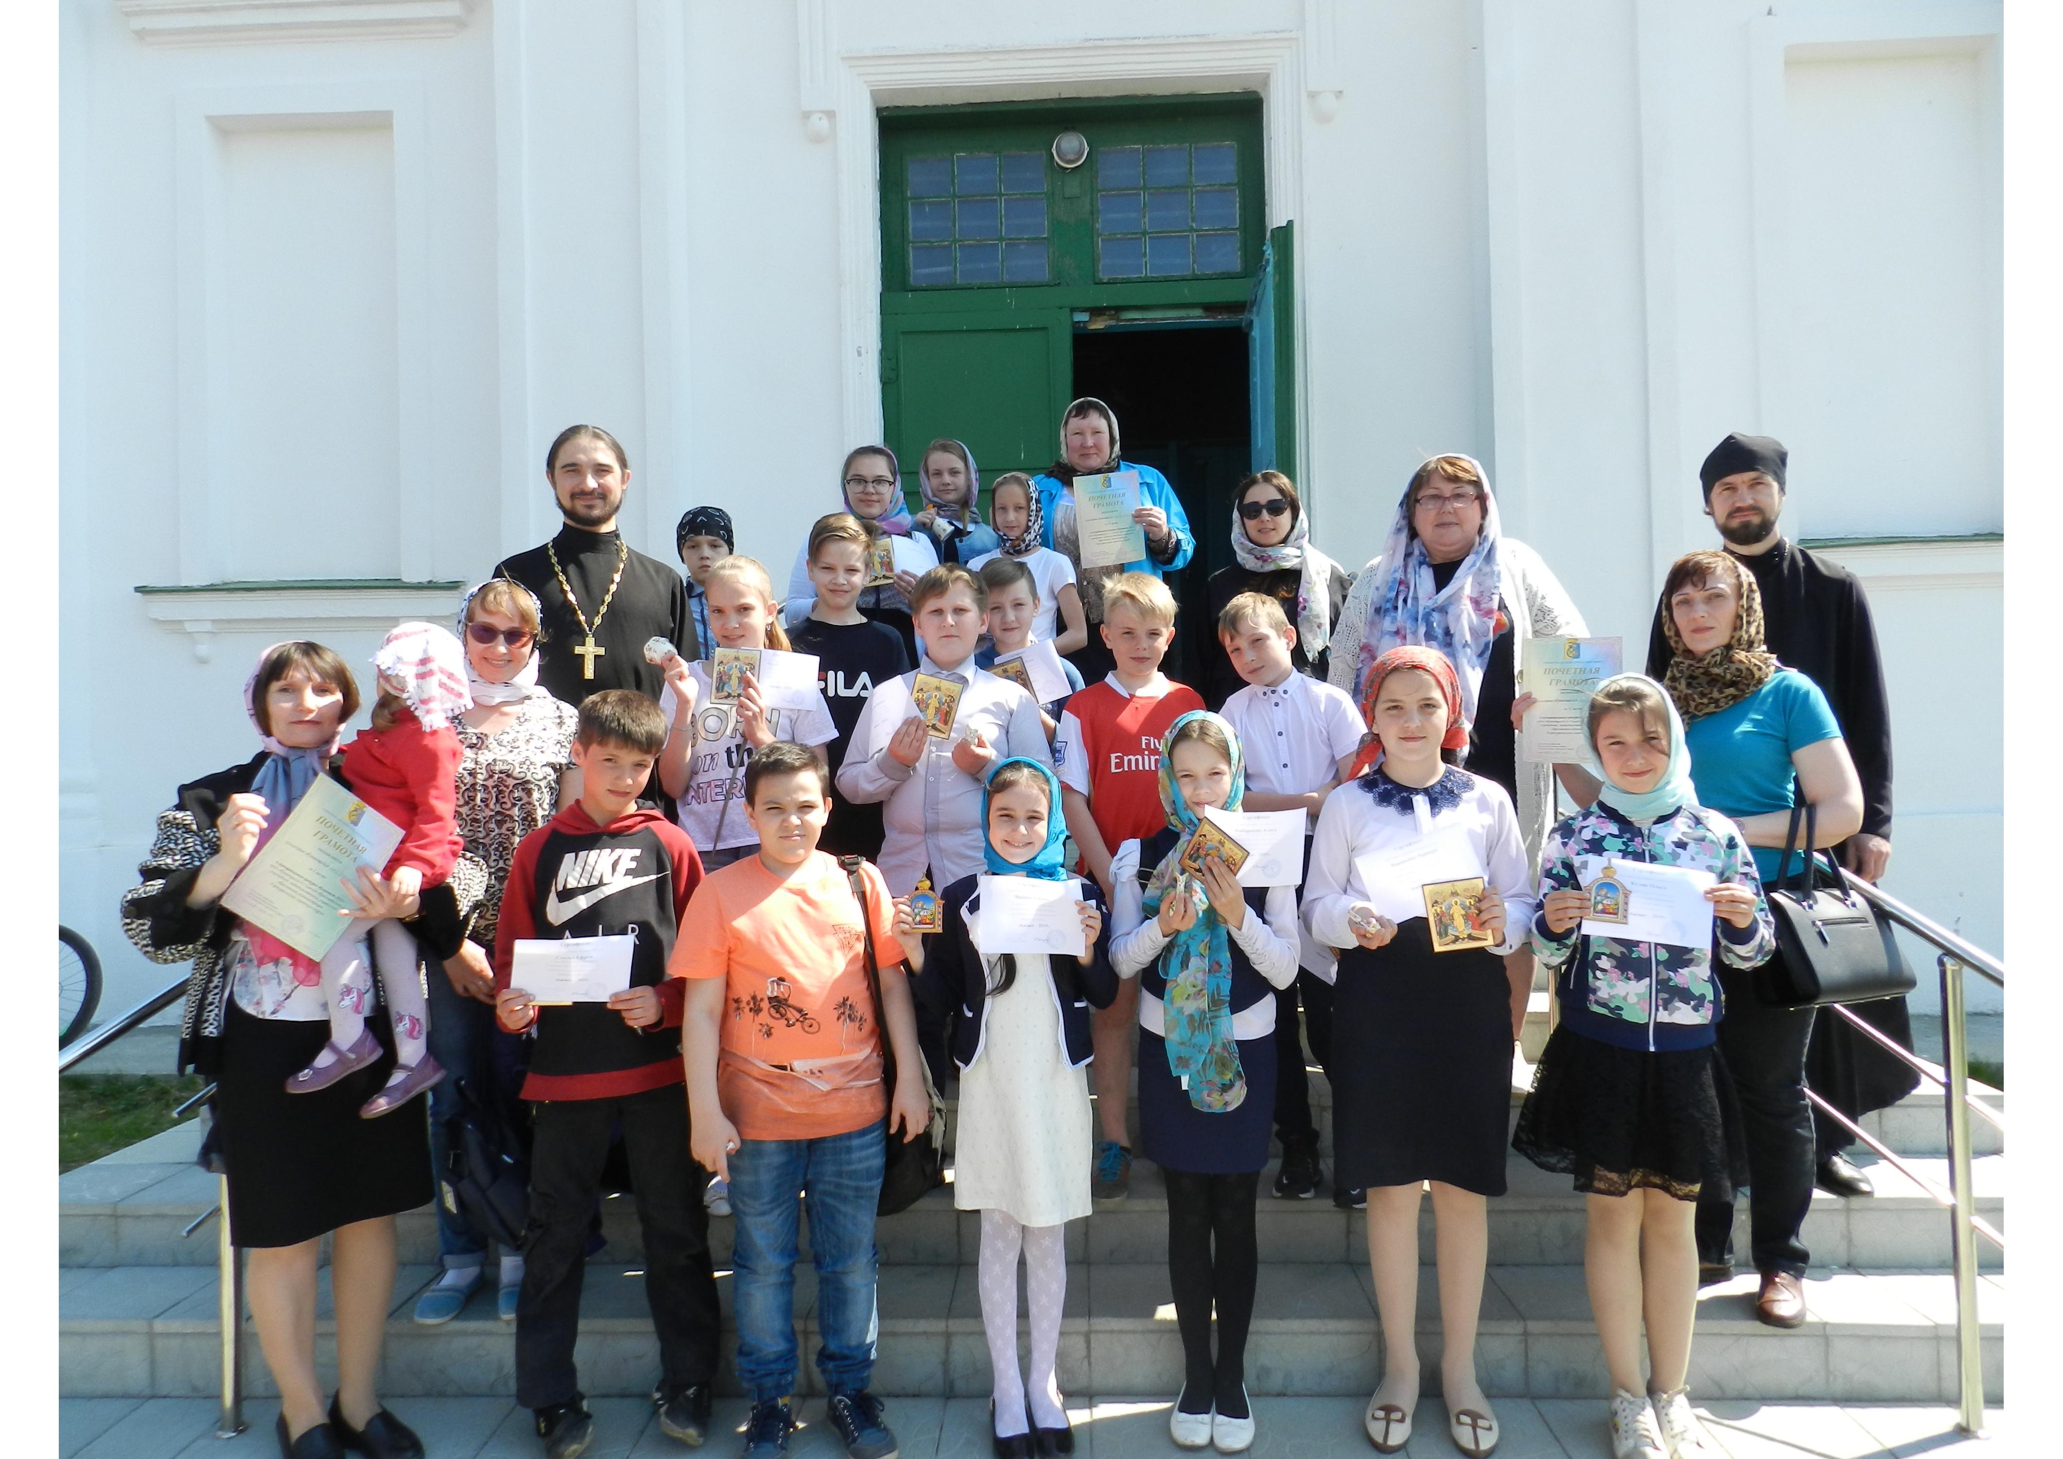
{"type": "MultiPolygon", "coordinates": [[[[1075,588],[1081,594],[1083,617],[1093,625],[1104,621],[1104,584],[1120,572],[1151,572],[1155,578],[1188,565],[1197,555],[1197,539],[1188,530],[1188,514],[1168,477],[1137,460],[1118,456],[1118,417],[1095,396],[1081,396],[1060,413],[1060,460],[1032,479],[1040,514],[1046,522],[1044,545],[1075,563],[1075,588]],[[1075,530],[1075,477],[1095,477],[1110,471],[1139,473],[1139,510],[1133,520],[1147,539],[1147,555],[1120,568],[1083,568],[1081,539],[1075,530]]],[[[1100,683],[1114,658],[1104,636],[1067,656],[1081,671],[1083,683],[1100,683]]]]}

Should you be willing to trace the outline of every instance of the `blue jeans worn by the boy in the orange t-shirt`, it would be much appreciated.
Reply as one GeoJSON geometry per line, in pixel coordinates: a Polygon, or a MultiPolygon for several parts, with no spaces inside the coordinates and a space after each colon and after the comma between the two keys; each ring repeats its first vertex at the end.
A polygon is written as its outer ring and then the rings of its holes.
{"type": "Polygon", "coordinates": [[[732,1306],[739,1383],[755,1403],[794,1393],[794,1259],[800,1195],[817,1263],[817,1372],[827,1393],[858,1393],[875,1370],[875,1205],[883,1129],[823,1139],[747,1139],[730,1156],[732,1306]]]}

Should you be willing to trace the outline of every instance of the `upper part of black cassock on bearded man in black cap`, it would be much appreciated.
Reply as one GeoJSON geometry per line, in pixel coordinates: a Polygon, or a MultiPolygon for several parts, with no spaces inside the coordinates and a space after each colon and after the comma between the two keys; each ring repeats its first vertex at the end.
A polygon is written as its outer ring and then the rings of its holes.
{"type": "MultiPolygon", "coordinates": [[[[1884,660],[1877,656],[1877,627],[1869,598],[1855,574],[1840,563],[1776,539],[1776,547],[1735,561],[1762,588],[1764,644],[1787,669],[1820,685],[1848,743],[1855,774],[1863,782],[1863,832],[1892,834],[1892,708],[1884,693],[1884,660]]],[[[1669,667],[1669,640],[1657,605],[1648,634],[1648,675],[1669,667]]]]}

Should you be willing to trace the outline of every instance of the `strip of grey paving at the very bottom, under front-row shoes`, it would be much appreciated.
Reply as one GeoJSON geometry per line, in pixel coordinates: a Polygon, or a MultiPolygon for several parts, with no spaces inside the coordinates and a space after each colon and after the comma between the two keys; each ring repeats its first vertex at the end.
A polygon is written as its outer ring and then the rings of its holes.
{"type": "MultiPolygon", "coordinates": [[[[1355,1397],[1254,1397],[1256,1455],[1368,1453],[1362,1405],[1355,1397]]],[[[1170,1453],[1166,1393],[1126,1397],[1098,1391],[1069,1393],[1075,1453],[1083,1459],[1137,1459],[1170,1453]]],[[[644,1397],[592,1399],[594,1449],[590,1459],[679,1459],[644,1397]]],[[[1729,1459],[1807,1459],[1811,1455],[1927,1455],[1927,1459],[1989,1459],[1999,1445],[1956,1432],[1956,1412],[1939,1403],[1762,1403],[1756,1399],[1696,1401],[1706,1432],[1729,1459]]],[[[437,1459],[536,1459],[538,1442],[528,1409],[507,1397],[396,1399],[396,1414],[423,1436],[437,1459]]],[[[60,1399],[60,1459],[256,1459],[279,1453],[272,1418],[279,1405],[254,1399],[243,1407],[245,1432],[215,1438],[210,1399],[60,1399]]],[[[745,1399],[718,1399],[710,1451],[728,1459],[745,1428],[745,1399]]],[[[844,1459],[844,1447],[809,1399],[796,1407],[800,1428],[792,1459],[844,1459]]],[[[965,1459],[988,1453],[988,1399],[891,1399],[887,1422],[906,1459],[965,1459]]],[[[1452,1455],[1440,1434],[1438,1403],[1421,1409],[1409,1453],[1452,1455]]],[[[1999,1434],[2003,1414],[1987,1414],[1999,1434]]],[[[1498,1401],[1504,1430],[1500,1455],[1510,1459],[1605,1459],[1605,1405],[1597,1399],[1498,1401]]]]}

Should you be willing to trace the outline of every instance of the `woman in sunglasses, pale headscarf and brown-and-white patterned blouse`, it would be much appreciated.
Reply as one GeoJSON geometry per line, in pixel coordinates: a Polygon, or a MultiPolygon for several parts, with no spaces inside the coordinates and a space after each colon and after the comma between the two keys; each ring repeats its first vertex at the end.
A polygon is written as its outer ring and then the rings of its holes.
{"type": "MultiPolygon", "coordinates": [[[[444,976],[431,974],[427,982],[429,1052],[450,1075],[429,1092],[437,1170],[444,1170],[446,1123],[460,1112],[460,1083],[524,1129],[516,1102],[522,1040],[495,1028],[495,922],[518,842],[580,795],[571,753],[580,714],[536,681],[538,601],[520,582],[489,578],[466,594],[458,634],[472,683],[472,708],[452,724],[466,751],[458,761],[458,832],[466,838],[460,861],[485,867],[487,891],[458,951],[444,960],[444,976]]],[[[437,1253],[444,1273],[415,1304],[415,1321],[425,1325],[458,1317],[481,1284],[487,1236],[437,1201],[437,1253]]],[[[503,1251],[499,1317],[505,1323],[516,1321],[518,1288],[522,1253],[503,1251]]]]}

